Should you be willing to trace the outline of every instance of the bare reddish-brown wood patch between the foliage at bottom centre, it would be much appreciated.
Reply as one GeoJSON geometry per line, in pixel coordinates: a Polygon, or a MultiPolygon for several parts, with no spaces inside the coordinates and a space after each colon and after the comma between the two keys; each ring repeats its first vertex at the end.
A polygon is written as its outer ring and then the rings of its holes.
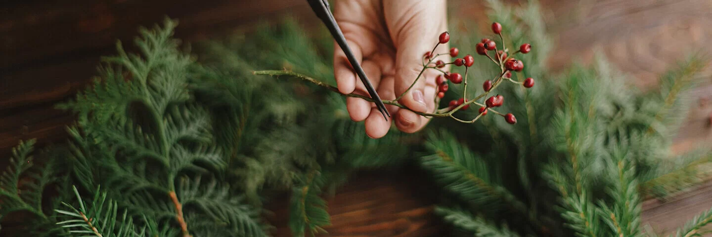
{"type": "MultiPolygon", "coordinates": [[[[358,172],[327,198],[332,225],[322,236],[449,236],[432,212],[436,186],[426,177],[413,169],[358,172]]],[[[277,228],[273,236],[290,236],[288,199],[278,199],[269,208],[275,211],[268,218],[277,228]]]]}

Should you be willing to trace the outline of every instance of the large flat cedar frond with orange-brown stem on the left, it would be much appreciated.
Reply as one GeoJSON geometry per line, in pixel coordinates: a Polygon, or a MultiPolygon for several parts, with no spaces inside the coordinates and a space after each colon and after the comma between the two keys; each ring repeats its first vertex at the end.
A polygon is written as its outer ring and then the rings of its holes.
{"type": "Polygon", "coordinates": [[[117,44],[119,55],[105,58],[105,68],[114,69],[100,70],[105,80],[59,106],[80,115],[78,127],[69,129],[73,175],[95,195],[95,186],[111,187],[106,195],[117,201],[108,209],[127,209],[129,220],[145,215],[174,226],[194,221],[184,234],[220,228],[266,236],[259,209],[230,193],[226,181],[201,182],[221,176],[229,159],[212,145],[209,110],[192,99],[189,78],[197,77],[199,65],[179,51],[171,38],[174,26],[166,21],[162,28],[142,29],[135,41],[140,54],[117,44]],[[117,73],[122,71],[127,73],[117,73]],[[204,219],[211,222],[199,221],[204,219]]]}

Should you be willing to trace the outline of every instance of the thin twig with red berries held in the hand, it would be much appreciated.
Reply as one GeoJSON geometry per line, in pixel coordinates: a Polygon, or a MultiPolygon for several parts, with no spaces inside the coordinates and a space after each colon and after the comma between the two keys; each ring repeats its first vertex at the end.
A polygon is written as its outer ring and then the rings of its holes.
{"type": "MultiPolygon", "coordinates": [[[[489,38],[483,38],[480,43],[476,44],[476,53],[481,56],[486,56],[489,58],[492,63],[495,65],[498,65],[500,68],[500,73],[498,73],[498,76],[494,78],[493,80],[486,80],[482,88],[484,90],[483,93],[476,95],[475,98],[468,100],[467,99],[467,74],[469,68],[474,64],[474,57],[471,55],[466,55],[463,58],[456,58],[453,60],[451,63],[445,63],[443,60],[436,60],[439,56],[445,56],[448,55],[451,58],[455,58],[459,55],[459,49],[458,48],[450,48],[449,53],[438,53],[435,54],[436,49],[438,46],[444,43],[448,43],[450,41],[450,34],[446,31],[440,34],[438,38],[438,43],[435,44],[433,49],[431,51],[428,51],[424,53],[423,58],[422,58],[422,65],[423,68],[420,70],[420,73],[418,74],[417,78],[413,81],[413,83],[409,86],[409,88],[399,95],[395,100],[383,100],[383,103],[386,105],[395,105],[397,107],[400,107],[405,110],[411,110],[410,108],[401,105],[398,101],[403,98],[404,95],[406,95],[413,87],[414,85],[422,78],[423,73],[427,69],[433,69],[433,70],[438,70],[439,72],[442,73],[442,75],[438,75],[436,77],[436,83],[438,86],[438,90],[436,90],[436,97],[435,97],[435,102],[436,104],[439,104],[440,99],[445,97],[445,93],[449,89],[450,85],[448,83],[448,80],[450,83],[453,84],[460,84],[464,82],[464,90],[463,90],[463,95],[462,98],[459,100],[452,100],[449,102],[449,105],[447,107],[439,108],[434,110],[433,112],[417,112],[413,111],[418,115],[422,115],[425,117],[451,117],[454,120],[457,120],[459,122],[465,122],[465,123],[473,123],[476,122],[480,117],[487,115],[488,111],[493,112],[496,115],[500,115],[504,117],[506,122],[510,124],[515,124],[517,122],[516,117],[511,114],[511,113],[501,113],[497,112],[496,110],[493,110],[494,107],[500,107],[504,103],[504,97],[502,95],[493,95],[486,100],[482,102],[478,102],[478,100],[481,100],[483,98],[486,98],[489,93],[491,93],[494,89],[496,89],[503,81],[508,81],[514,84],[518,85],[523,85],[525,88],[531,88],[534,86],[534,79],[533,78],[526,78],[523,82],[519,82],[516,80],[512,80],[512,73],[513,72],[521,72],[524,69],[524,63],[521,60],[518,60],[516,58],[513,58],[512,56],[508,56],[507,52],[509,52],[508,48],[504,46],[504,38],[502,36],[502,25],[500,23],[492,23],[492,31],[493,33],[496,33],[501,42],[502,42],[502,49],[498,50],[497,49],[497,44],[495,41],[489,39],[489,38]],[[490,54],[488,53],[489,51],[494,51],[495,56],[497,60],[492,58],[490,54]],[[465,67],[465,75],[461,75],[460,73],[449,73],[441,68],[444,68],[445,65],[456,65],[456,66],[464,66],[465,67]],[[463,120],[460,118],[457,118],[454,116],[454,113],[459,111],[459,110],[467,110],[471,104],[478,105],[480,106],[478,112],[479,114],[474,117],[472,120],[463,120]]],[[[513,54],[516,53],[529,53],[531,51],[531,45],[528,43],[524,43],[519,47],[519,50],[516,51],[513,54]]],[[[253,72],[254,75],[274,75],[274,76],[279,76],[279,75],[287,75],[293,78],[299,78],[301,80],[308,81],[310,83],[314,83],[315,85],[319,85],[323,88],[327,88],[329,90],[332,90],[335,93],[339,93],[343,96],[347,97],[354,97],[354,98],[362,98],[364,100],[367,100],[369,102],[374,102],[371,98],[368,98],[364,95],[358,95],[355,93],[340,93],[338,88],[334,87],[333,85],[328,85],[327,83],[323,83],[320,80],[316,80],[314,78],[310,78],[306,75],[302,75],[299,73],[295,73],[293,71],[289,70],[258,70],[253,72]]]]}

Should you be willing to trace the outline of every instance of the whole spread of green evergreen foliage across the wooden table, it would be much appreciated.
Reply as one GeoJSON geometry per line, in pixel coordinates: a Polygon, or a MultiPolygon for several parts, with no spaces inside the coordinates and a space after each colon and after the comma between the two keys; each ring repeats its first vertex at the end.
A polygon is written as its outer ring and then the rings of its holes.
{"type": "MultiPolygon", "coordinates": [[[[689,58],[646,93],[601,56],[552,75],[538,3],[488,4],[509,45],[533,45],[513,79],[537,85],[498,91],[517,125],[495,115],[473,125],[436,119],[424,139],[397,131],[369,139],[340,95],[251,73],[288,68],[335,84],[324,32],[310,38],[288,21],[199,45],[198,62],[167,20],[140,30],[136,54],[118,43],[94,85],[58,105],[77,115],[66,148],[41,152],[40,167],[33,140],[14,149],[0,177],[0,216],[28,213],[22,228],[33,236],[269,236],[263,203],[286,192],[293,234],[314,235],[330,224],[325,192],[350,172],[415,163],[440,184],[436,214],[457,236],[655,236],[642,228],[642,199],[691,185],[710,157],[668,154],[685,92],[707,61],[689,58]],[[57,201],[43,201],[51,188],[57,201]]],[[[452,42],[473,51],[484,36],[452,42]]],[[[486,59],[476,63],[474,84],[494,76],[486,59]]],[[[701,234],[711,216],[676,236],[701,234]]]]}

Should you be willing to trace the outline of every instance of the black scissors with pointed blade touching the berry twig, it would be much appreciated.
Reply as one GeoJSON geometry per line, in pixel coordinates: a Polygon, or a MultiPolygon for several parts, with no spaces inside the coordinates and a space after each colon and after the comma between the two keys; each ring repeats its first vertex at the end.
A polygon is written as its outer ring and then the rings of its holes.
{"type": "Polygon", "coordinates": [[[371,98],[375,100],[376,107],[378,108],[378,111],[380,111],[383,114],[383,118],[388,120],[387,117],[391,117],[391,115],[388,113],[388,110],[386,110],[386,106],[383,105],[383,101],[381,98],[378,97],[378,93],[376,93],[376,90],[373,88],[373,85],[371,85],[371,82],[368,80],[366,77],[366,73],[364,73],[363,68],[361,68],[361,65],[358,63],[356,60],[356,57],[354,56],[354,53],[351,52],[351,48],[349,48],[348,44],[346,43],[346,38],[344,38],[344,33],[341,32],[341,28],[339,28],[339,25],[336,24],[336,20],[334,19],[333,14],[331,14],[331,10],[329,9],[329,3],[327,0],[307,0],[309,2],[309,6],[311,6],[312,10],[314,10],[314,13],[316,16],[321,19],[321,21],[324,22],[326,25],[326,28],[329,29],[331,32],[331,36],[334,37],[336,40],[336,43],[341,47],[341,50],[344,51],[346,54],[346,58],[348,58],[349,62],[353,66],[354,70],[356,70],[356,74],[358,75],[359,78],[361,78],[361,82],[363,85],[366,86],[366,90],[368,90],[368,94],[371,95],[371,98]],[[387,117],[386,117],[387,116],[387,117]]]}

